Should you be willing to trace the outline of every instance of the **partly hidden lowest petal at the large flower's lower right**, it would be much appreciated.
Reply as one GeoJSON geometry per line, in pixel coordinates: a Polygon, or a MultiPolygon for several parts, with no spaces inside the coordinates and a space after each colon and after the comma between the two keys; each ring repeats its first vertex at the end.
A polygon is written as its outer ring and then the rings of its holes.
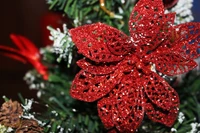
{"type": "Polygon", "coordinates": [[[147,102],[145,104],[145,112],[149,119],[153,120],[154,122],[159,122],[164,124],[168,127],[171,127],[178,115],[178,106],[174,106],[171,110],[166,111],[161,108],[158,108],[151,102],[147,102]]]}

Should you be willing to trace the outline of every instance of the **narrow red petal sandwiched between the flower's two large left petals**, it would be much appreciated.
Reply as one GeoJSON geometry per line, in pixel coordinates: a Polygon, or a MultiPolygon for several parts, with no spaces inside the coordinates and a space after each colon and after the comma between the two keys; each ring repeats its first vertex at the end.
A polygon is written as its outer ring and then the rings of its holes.
{"type": "Polygon", "coordinates": [[[77,61],[77,65],[83,70],[98,75],[110,74],[115,71],[116,65],[115,63],[95,63],[89,60],[81,59],[77,61]]]}

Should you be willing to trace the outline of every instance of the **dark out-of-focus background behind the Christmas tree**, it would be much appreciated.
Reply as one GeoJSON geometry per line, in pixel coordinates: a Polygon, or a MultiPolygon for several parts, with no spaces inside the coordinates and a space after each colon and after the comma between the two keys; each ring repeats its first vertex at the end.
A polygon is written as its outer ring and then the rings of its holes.
{"type": "MultiPolygon", "coordinates": [[[[193,16],[200,22],[200,0],[194,0],[193,16]]],[[[17,33],[26,36],[38,47],[41,43],[41,17],[48,11],[46,0],[4,0],[0,4],[0,44],[13,47],[9,35],[17,33]]],[[[22,92],[26,98],[35,97],[23,80],[24,74],[32,68],[13,59],[0,55],[0,102],[2,96],[14,100],[22,92]]]]}

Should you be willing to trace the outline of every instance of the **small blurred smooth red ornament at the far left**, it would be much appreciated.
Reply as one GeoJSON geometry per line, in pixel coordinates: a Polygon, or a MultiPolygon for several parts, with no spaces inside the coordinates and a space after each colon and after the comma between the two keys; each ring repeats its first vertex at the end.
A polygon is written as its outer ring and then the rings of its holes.
{"type": "Polygon", "coordinates": [[[0,53],[23,63],[29,62],[47,80],[47,68],[41,63],[41,55],[35,44],[21,35],[11,34],[10,38],[19,50],[0,45],[0,53]]]}

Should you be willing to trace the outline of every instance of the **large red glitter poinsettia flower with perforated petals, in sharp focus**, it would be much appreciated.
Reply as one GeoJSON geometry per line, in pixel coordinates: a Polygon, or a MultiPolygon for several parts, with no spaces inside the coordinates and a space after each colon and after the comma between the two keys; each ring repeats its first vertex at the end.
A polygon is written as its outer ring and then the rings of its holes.
{"type": "Polygon", "coordinates": [[[179,97],[162,75],[192,70],[200,50],[200,23],[175,26],[174,18],[175,13],[164,14],[162,0],[140,0],[130,15],[130,36],[103,23],[70,30],[85,56],[77,62],[82,70],[70,95],[98,101],[107,129],[134,132],[145,114],[154,122],[173,125],[179,97]]]}

